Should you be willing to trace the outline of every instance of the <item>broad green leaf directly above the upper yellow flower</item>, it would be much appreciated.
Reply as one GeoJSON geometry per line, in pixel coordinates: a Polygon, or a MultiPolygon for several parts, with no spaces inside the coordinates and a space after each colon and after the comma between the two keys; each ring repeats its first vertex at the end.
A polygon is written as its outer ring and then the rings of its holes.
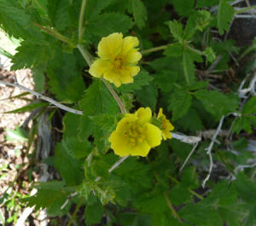
{"type": "Polygon", "coordinates": [[[129,16],[119,13],[98,14],[90,18],[84,36],[95,35],[96,37],[104,37],[113,32],[127,33],[132,27],[132,20],[129,16]]]}

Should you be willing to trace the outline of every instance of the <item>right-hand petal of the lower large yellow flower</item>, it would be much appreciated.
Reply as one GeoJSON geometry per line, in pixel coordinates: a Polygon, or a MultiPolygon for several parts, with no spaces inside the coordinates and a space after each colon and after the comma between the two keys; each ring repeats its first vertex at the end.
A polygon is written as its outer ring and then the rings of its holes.
{"type": "Polygon", "coordinates": [[[146,140],[150,147],[156,147],[160,145],[162,136],[161,136],[161,130],[150,123],[146,125],[146,140]]]}

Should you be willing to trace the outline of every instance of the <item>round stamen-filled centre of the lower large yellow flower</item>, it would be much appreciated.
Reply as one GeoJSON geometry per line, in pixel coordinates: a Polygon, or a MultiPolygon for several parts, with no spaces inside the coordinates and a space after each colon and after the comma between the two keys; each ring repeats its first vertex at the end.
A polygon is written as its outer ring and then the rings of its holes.
{"type": "Polygon", "coordinates": [[[124,132],[125,140],[130,143],[131,147],[134,147],[137,143],[145,140],[146,136],[144,135],[144,132],[145,128],[138,125],[137,122],[127,122],[127,127],[124,132]]]}

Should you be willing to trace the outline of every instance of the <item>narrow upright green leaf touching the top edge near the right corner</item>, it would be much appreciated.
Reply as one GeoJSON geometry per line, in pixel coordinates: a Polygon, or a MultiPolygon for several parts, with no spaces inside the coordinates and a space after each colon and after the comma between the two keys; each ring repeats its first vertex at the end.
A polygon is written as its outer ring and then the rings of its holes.
{"type": "Polygon", "coordinates": [[[224,0],[220,0],[218,5],[218,14],[217,14],[217,21],[218,21],[218,32],[220,35],[224,34],[224,31],[229,31],[230,22],[233,18],[234,9],[224,0]]]}

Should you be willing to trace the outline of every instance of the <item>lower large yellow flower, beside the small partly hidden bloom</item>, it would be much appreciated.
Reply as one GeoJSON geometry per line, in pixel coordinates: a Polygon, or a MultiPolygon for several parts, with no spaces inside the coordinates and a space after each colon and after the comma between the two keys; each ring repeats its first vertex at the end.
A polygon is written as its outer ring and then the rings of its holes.
{"type": "Polygon", "coordinates": [[[147,156],[150,148],[160,145],[160,129],[149,123],[152,113],[149,107],[140,107],[136,113],[126,113],[112,132],[108,141],[115,154],[147,156]]]}

